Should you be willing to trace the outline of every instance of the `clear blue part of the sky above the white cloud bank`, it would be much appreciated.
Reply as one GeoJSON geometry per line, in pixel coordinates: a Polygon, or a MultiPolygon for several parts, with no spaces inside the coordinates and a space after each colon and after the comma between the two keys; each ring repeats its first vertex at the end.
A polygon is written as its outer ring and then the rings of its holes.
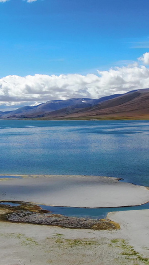
{"type": "Polygon", "coordinates": [[[149,0],[0,0],[0,78],[96,75],[148,52],[149,0]]]}

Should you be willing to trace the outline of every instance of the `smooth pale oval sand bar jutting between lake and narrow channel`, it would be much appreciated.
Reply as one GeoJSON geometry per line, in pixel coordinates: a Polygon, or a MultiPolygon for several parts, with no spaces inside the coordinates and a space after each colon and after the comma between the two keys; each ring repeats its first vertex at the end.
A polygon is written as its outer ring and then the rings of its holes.
{"type": "Polygon", "coordinates": [[[70,207],[119,207],[149,201],[149,189],[114,177],[23,176],[0,181],[0,200],[70,207]]]}

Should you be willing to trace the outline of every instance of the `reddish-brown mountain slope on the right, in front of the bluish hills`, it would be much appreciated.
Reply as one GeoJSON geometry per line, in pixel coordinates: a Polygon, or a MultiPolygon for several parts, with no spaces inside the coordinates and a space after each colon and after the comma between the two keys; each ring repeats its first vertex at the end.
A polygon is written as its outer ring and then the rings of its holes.
{"type": "Polygon", "coordinates": [[[70,106],[43,115],[46,119],[149,119],[149,89],[132,91],[87,108],[70,106]]]}

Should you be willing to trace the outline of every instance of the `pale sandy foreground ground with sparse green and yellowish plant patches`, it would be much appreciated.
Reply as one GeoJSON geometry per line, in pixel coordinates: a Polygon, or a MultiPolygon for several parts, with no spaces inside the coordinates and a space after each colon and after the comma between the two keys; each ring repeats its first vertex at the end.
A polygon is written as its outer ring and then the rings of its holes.
{"type": "Polygon", "coordinates": [[[149,265],[149,210],[113,212],[120,230],[0,222],[0,265],[149,265]]]}

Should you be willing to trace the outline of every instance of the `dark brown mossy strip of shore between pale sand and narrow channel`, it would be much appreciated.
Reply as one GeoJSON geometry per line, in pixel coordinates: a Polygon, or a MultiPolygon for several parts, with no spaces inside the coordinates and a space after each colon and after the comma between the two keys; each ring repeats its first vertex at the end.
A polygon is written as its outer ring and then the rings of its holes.
{"type": "Polygon", "coordinates": [[[68,217],[62,214],[54,214],[49,210],[42,209],[38,205],[20,201],[1,201],[0,212],[0,221],[4,222],[51,225],[75,229],[120,229],[119,224],[107,218],[98,220],[91,218],[68,217]],[[2,204],[3,202],[7,204],[2,204]],[[14,206],[15,204],[17,204],[17,206],[14,206]]]}

